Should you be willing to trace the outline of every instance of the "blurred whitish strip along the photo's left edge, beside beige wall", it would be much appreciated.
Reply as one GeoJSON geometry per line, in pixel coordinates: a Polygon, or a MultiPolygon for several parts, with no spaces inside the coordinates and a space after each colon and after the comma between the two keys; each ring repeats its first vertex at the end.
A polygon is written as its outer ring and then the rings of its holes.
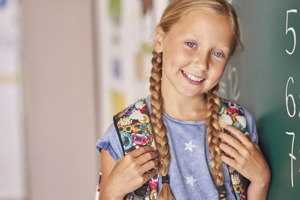
{"type": "Polygon", "coordinates": [[[0,0],[0,199],[25,199],[19,0],[0,0]]]}

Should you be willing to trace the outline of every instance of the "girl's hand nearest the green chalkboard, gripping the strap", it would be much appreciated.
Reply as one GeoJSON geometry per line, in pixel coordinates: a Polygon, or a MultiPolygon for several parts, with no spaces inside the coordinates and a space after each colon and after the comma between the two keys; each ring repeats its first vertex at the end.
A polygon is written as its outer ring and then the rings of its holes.
{"type": "Polygon", "coordinates": [[[231,125],[226,126],[225,129],[235,135],[236,139],[227,133],[219,133],[219,137],[232,146],[221,142],[219,144],[220,149],[234,158],[222,154],[222,161],[235,168],[255,185],[268,186],[270,169],[258,145],[251,142],[240,130],[231,125]]]}

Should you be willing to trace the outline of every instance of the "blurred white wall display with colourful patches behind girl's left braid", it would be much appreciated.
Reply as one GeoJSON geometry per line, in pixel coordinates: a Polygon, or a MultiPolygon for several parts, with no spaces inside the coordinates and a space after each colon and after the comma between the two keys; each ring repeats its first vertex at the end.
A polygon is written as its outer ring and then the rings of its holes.
{"type": "Polygon", "coordinates": [[[112,116],[149,95],[155,27],[169,0],[98,0],[99,135],[112,116]]]}

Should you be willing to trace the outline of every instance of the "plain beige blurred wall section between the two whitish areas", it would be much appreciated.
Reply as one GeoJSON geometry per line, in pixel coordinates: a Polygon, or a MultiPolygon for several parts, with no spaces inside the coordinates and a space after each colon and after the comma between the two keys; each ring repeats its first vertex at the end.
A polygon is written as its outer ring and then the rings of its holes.
{"type": "Polygon", "coordinates": [[[93,199],[97,177],[92,0],[23,0],[27,197],[93,199]]]}

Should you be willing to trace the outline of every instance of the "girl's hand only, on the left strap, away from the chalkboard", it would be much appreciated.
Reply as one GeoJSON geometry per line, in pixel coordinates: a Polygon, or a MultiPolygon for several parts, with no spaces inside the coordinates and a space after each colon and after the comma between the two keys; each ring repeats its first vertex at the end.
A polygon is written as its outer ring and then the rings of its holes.
{"type": "Polygon", "coordinates": [[[119,158],[105,181],[103,191],[122,198],[153,177],[155,169],[147,172],[157,165],[153,150],[152,146],[144,146],[119,158]]]}

